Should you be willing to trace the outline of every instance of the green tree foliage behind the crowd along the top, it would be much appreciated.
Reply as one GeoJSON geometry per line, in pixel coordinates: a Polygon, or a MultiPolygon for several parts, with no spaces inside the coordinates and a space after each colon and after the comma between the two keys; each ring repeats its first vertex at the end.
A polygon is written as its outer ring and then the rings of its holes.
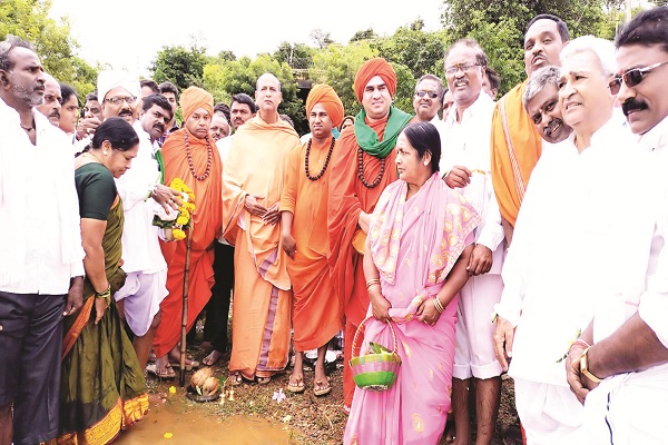
{"type": "MultiPolygon", "coordinates": [[[[49,0],[0,0],[0,39],[11,33],[29,40],[45,69],[72,85],[81,102],[95,90],[97,73],[107,67],[77,56],[79,43],[70,36],[67,18],[49,18],[50,8],[49,0]]],[[[444,80],[444,52],[465,37],[474,38],[485,50],[490,66],[500,75],[503,95],[525,77],[524,27],[539,13],[561,17],[571,38],[595,34],[612,39],[623,20],[623,0],[448,0],[442,6],[442,28],[436,31],[425,31],[424,22],[418,19],[391,36],[377,36],[372,28],[360,30],[342,44],[332,41],[326,30],[314,29],[312,44],[282,41],[273,53],[238,60],[233,51],[210,56],[194,41],[189,47],[163,47],[147,60],[147,67],[157,82],[169,80],[179,90],[199,86],[210,91],[216,102],[227,103],[236,92],[253,97],[257,77],[273,72],[282,83],[279,112],[291,116],[297,131],[304,134],[308,131],[304,102],[312,83],[331,85],[346,115],[354,115],[360,110],[353,91],[355,72],[365,60],[384,57],[399,78],[395,103],[410,112],[416,79],[429,72],[444,80]]]]}

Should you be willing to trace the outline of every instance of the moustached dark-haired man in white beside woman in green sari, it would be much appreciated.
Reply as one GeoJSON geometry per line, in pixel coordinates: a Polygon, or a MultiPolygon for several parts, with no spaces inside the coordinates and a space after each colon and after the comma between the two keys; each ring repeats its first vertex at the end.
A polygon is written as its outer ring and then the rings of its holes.
{"type": "MultiPolygon", "coordinates": [[[[132,168],[116,179],[125,216],[122,269],[127,278],[114,297],[135,334],[132,346],[141,368],[146,367],[160,323],[160,301],[167,296],[167,264],[158,244],[159,229],[153,225],[153,220],[156,202],[176,207],[173,199],[177,195],[163,185],[164,168],[158,161],[157,141],[165,134],[170,119],[171,106],[165,97],[151,95],[144,98],[139,120],[134,125],[139,136],[137,157],[132,159],[132,168]]],[[[168,376],[174,376],[174,370],[168,376]]]]}

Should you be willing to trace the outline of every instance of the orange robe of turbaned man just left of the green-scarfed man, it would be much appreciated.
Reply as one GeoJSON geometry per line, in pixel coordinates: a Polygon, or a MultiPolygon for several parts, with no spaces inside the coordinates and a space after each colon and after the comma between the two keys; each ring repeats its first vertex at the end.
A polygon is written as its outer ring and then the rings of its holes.
{"type": "MultiPolygon", "coordinates": [[[[308,156],[312,177],[322,171],[332,141],[330,138],[318,146],[312,139],[308,156]]],[[[291,152],[281,198],[281,210],[293,214],[292,234],[297,246],[294,259],[287,258],[297,352],[324,346],[343,327],[343,300],[332,286],[327,264],[327,186],[332,165],[320,179],[308,179],[304,170],[306,147],[304,144],[291,152]]]]}

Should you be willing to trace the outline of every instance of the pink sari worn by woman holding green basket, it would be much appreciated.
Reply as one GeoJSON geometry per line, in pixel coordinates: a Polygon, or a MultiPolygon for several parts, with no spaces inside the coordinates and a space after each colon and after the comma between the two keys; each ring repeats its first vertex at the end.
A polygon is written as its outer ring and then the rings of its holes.
{"type": "MultiPolygon", "coordinates": [[[[387,186],[369,231],[382,293],[392,303],[390,316],[395,322],[402,365],[391,389],[355,389],[345,444],[436,444],[450,409],[459,296],[434,326],[414,317],[422,301],[438,294],[473,241],[480,217],[438,174],[407,201],[406,191],[403,180],[387,186]]],[[[369,342],[392,348],[390,327],[373,318],[366,322],[362,354],[369,342]]]]}

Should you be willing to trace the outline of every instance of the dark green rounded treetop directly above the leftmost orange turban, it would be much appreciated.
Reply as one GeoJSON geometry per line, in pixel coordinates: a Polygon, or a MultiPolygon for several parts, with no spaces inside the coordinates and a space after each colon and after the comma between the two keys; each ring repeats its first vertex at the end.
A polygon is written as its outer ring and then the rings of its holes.
{"type": "Polygon", "coordinates": [[[207,63],[205,49],[193,44],[184,47],[163,47],[153,62],[151,77],[156,82],[170,81],[179,91],[190,86],[203,85],[204,66],[207,63]]]}

